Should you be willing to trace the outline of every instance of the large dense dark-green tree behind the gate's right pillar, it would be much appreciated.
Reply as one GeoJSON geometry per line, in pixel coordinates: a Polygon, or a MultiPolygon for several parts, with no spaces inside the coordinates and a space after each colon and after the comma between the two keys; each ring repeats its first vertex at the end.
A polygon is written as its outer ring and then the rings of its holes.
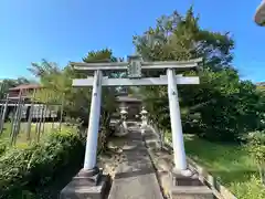
{"type": "MultiPolygon", "coordinates": [[[[203,30],[191,7],[184,15],[162,15],[155,28],[134,38],[137,52],[147,61],[179,61],[203,57],[200,85],[178,86],[184,132],[211,140],[236,140],[256,127],[261,95],[251,82],[241,81],[232,66],[234,41],[230,33],[203,30]],[[258,105],[257,105],[258,104],[258,105]]],[[[148,72],[158,76],[162,72],[148,72]]],[[[151,119],[170,130],[166,86],[144,87],[144,103],[151,119]],[[161,108],[158,108],[161,107],[161,108]]]]}

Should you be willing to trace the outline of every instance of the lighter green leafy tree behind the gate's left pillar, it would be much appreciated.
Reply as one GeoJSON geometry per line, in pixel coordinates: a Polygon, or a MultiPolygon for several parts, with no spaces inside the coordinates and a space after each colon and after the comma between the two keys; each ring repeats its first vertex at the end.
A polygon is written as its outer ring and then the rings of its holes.
{"type": "MultiPolygon", "coordinates": [[[[108,49],[88,52],[83,59],[84,62],[114,62],[117,60],[108,49]]],[[[50,63],[45,60],[42,63],[33,63],[29,70],[40,77],[41,85],[43,86],[43,90],[36,93],[38,101],[44,102],[44,98],[49,98],[49,104],[62,104],[64,102],[66,116],[80,118],[84,125],[87,125],[92,88],[75,88],[72,86],[73,78],[87,77],[87,73],[78,72],[72,65],[67,65],[61,70],[55,63],[50,63]]],[[[113,72],[105,72],[104,75],[112,76],[115,74],[113,72]]],[[[109,123],[110,114],[116,108],[114,101],[115,90],[103,87],[102,123],[105,126],[109,123]]]]}

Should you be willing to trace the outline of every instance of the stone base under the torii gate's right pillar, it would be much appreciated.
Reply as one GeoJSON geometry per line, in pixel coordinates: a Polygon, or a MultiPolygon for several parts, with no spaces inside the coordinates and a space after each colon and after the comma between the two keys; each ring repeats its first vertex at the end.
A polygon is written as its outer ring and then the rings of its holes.
{"type": "Polygon", "coordinates": [[[212,190],[202,184],[198,174],[183,176],[171,172],[171,198],[172,199],[213,199],[212,190]]]}

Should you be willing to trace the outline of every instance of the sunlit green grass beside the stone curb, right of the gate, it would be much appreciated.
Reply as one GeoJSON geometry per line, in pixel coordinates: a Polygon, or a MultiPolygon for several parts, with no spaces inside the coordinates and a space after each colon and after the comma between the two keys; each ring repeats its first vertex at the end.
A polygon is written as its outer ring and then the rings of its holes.
{"type": "Polygon", "coordinates": [[[257,167],[246,148],[186,136],[186,150],[189,157],[206,168],[239,199],[265,198],[265,188],[259,184],[257,167]]]}

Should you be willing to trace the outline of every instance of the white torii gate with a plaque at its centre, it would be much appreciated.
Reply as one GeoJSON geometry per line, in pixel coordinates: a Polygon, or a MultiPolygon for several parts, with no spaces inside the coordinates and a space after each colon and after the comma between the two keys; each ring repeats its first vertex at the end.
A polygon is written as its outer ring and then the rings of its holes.
{"type": "Polygon", "coordinates": [[[168,98],[170,107],[170,122],[172,130],[172,144],[174,154],[174,170],[189,176],[186,151],[183,144],[183,134],[181,126],[180,106],[178,101],[177,84],[199,84],[198,76],[176,75],[174,70],[187,70],[197,67],[202,59],[177,62],[142,62],[139,56],[128,56],[129,62],[115,63],[75,63],[75,70],[94,71],[94,76],[87,78],[73,80],[73,86],[93,86],[89,124],[87,130],[86,151],[84,160],[84,170],[94,170],[96,168],[97,137],[99,130],[102,86],[138,86],[138,85],[168,85],[168,98]],[[167,75],[160,77],[141,77],[141,70],[167,69],[167,75]],[[128,70],[129,78],[108,78],[103,76],[102,71],[128,70]]]}

